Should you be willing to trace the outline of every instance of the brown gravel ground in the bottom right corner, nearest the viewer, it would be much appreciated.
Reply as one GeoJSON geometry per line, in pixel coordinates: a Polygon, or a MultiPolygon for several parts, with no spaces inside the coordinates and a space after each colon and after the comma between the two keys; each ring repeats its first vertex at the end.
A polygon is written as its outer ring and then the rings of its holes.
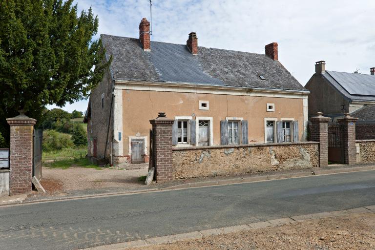
{"type": "Polygon", "coordinates": [[[375,213],[252,229],[133,250],[375,250],[375,213]]]}

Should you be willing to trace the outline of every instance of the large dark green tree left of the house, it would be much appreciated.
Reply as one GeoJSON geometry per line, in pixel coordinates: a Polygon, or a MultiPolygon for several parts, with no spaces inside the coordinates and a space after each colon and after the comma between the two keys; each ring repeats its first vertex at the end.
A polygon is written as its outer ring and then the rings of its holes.
{"type": "MultiPolygon", "coordinates": [[[[0,0],[0,132],[24,109],[39,119],[47,104],[87,97],[107,63],[91,8],[73,0],[0,0]]],[[[5,132],[5,134],[4,134],[5,132]]]]}

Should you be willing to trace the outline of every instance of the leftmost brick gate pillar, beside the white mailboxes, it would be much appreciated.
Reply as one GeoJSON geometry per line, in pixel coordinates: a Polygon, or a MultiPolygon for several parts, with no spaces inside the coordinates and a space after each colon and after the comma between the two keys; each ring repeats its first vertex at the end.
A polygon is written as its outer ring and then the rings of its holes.
{"type": "Polygon", "coordinates": [[[37,120],[20,115],[6,119],[10,125],[9,194],[31,191],[33,178],[33,131],[37,120]]]}

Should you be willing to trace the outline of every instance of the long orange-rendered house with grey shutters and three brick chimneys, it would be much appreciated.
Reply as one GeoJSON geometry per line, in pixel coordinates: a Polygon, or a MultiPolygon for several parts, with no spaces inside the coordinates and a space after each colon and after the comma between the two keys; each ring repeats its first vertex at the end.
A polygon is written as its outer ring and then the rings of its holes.
{"type": "Polygon", "coordinates": [[[112,62],[92,91],[84,122],[88,156],[113,164],[148,161],[149,120],[175,119],[176,147],[305,141],[309,91],[278,61],[278,44],[255,54],[101,35],[112,62]]]}

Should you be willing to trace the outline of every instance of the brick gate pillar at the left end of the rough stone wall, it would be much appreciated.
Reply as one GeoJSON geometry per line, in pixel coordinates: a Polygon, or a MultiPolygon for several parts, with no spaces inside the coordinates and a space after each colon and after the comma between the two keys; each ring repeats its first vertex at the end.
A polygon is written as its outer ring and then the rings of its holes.
{"type": "Polygon", "coordinates": [[[152,154],[156,182],[173,179],[172,173],[172,125],[174,120],[159,112],[157,118],[150,120],[152,125],[152,154]]]}

